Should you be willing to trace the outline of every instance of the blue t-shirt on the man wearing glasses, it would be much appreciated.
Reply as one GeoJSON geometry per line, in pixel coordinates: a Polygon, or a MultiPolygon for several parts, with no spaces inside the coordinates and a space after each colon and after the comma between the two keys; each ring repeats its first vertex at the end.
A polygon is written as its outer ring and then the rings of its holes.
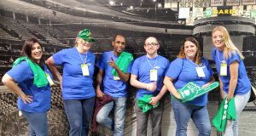
{"type": "Polygon", "coordinates": [[[169,66],[169,60],[158,55],[154,59],[150,59],[147,55],[143,55],[135,59],[132,68],[131,74],[136,75],[139,82],[150,83],[150,70],[157,70],[157,88],[154,92],[150,92],[144,88],[138,88],[137,90],[137,99],[142,98],[145,94],[153,94],[156,96],[159,94],[161,88],[164,84],[164,77],[166,70],[169,66]]]}

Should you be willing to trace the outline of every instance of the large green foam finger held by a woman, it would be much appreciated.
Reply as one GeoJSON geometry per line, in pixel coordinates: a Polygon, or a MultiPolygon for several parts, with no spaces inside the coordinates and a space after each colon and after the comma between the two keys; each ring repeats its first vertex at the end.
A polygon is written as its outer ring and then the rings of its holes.
{"type": "Polygon", "coordinates": [[[184,103],[193,100],[203,94],[207,94],[214,88],[218,88],[218,86],[219,82],[212,82],[212,84],[208,85],[207,88],[201,88],[193,82],[188,82],[183,88],[178,90],[178,94],[180,94],[184,103]]]}

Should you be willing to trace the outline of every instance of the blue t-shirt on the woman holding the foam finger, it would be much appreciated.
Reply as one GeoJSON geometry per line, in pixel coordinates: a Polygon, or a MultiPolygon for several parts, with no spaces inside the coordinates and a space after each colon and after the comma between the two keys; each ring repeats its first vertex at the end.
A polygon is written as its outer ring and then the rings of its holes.
{"type": "MultiPolygon", "coordinates": [[[[212,68],[210,67],[208,60],[204,58],[201,58],[201,65],[196,65],[189,59],[177,58],[172,61],[166,72],[166,77],[172,77],[172,79],[174,79],[174,87],[176,89],[183,88],[188,82],[194,82],[201,87],[211,80],[212,75],[212,68]],[[206,77],[198,77],[195,70],[195,67],[198,66],[203,67],[206,77]]],[[[201,95],[200,97],[187,102],[187,104],[200,106],[207,105],[207,94],[201,95]]]]}

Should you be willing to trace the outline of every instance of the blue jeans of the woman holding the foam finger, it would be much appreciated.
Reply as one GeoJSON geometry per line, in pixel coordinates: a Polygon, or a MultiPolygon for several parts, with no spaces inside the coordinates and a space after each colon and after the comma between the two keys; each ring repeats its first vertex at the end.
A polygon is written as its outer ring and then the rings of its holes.
{"type": "Polygon", "coordinates": [[[183,104],[172,98],[172,108],[175,122],[177,124],[176,136],[186,136],[190,117],[197,127],[199,136],[211,135],[211,122],[207,111],[207,106],[196,106],[183,104]]]}

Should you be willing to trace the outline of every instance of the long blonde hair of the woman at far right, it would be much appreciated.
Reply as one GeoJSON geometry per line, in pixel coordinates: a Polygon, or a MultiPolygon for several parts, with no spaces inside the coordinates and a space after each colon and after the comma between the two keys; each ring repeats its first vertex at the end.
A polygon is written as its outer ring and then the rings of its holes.
{"type": "Polygon", "coordinates": [[[241,51],[238,48],[236,48],[236,45],[231,41],[230,33],[224,26],[216,26],[215,28],[213,28],[212,34],[215,31],[222,32],[224,37],[224,59],[229,59],[231,57],[231,53],[236,54],[236,51],[239,54],[240,58],[244,59],[244,56],[241,54],[241,51]]]}

